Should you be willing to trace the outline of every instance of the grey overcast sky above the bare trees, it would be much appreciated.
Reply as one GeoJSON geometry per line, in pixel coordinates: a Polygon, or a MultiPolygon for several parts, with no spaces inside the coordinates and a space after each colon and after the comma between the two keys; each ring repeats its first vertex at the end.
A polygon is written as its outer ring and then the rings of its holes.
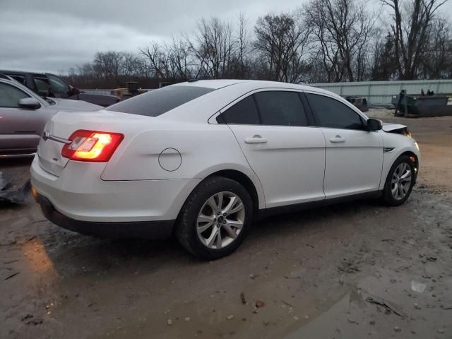
{"type": "MultiPolygon", "coordinates": [[[[137,52],[151,40],[193,32],[202,17],[232,21],[242,12],[252,29],[258,16],[304,1],[0,0],[0,69],[59,73],[97,51],[137,52]]],[[[441,12],[452,15],[452,0],[441,12]]]]}

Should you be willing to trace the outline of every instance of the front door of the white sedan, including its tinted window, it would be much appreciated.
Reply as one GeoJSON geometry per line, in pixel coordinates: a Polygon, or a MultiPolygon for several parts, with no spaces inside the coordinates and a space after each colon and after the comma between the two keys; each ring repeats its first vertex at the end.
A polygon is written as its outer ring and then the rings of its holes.
{"type": "Polygon", "coordinates": [[[383,166],[380,133],[368,131],[364,118],[334,97],[306,95],[326,139],[326,198],[378,191],[383,166]]]}

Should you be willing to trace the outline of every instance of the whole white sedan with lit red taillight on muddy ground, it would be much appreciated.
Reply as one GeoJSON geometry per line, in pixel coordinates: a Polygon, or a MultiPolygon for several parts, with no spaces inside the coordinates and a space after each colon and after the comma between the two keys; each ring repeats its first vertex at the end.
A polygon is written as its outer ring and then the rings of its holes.
{"type": "Polygon", "coordinates": [[[100,112],[55,115],[32,162],[32,193],[55,224],[102,237],[176,234],[220,258],[273,213],[354,198],[398,206],[420,153],[326,90],[189,81],[100,112]]]}

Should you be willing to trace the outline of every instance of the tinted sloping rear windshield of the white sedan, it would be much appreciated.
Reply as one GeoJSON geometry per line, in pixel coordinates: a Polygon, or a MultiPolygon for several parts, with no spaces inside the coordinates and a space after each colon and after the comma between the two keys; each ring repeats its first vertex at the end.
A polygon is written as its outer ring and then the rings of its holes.
{"type": "Polygon", "coordinates": [[[212,91],[212,88],[197,86],[167,86],[118,102],[107,107],[107,111],[158,117],[160,114],[212,91]]]}

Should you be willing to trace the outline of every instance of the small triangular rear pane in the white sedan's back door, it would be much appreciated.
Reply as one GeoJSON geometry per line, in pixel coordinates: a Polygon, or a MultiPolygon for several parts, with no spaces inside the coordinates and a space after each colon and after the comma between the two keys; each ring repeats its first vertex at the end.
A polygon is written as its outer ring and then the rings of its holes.
{"type": "Polygon", "coordinates": [[[217,118],[220,124],[258,125],[259,114],[253,96],[245,97],[234,106],[227,109],[217,118]]]}

